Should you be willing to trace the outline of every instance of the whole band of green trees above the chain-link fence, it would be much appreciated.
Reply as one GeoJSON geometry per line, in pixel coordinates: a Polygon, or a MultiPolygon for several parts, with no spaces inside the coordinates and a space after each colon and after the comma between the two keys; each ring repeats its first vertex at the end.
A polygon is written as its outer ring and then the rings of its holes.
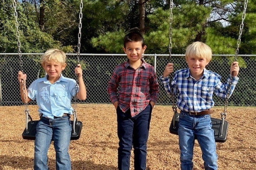
{"type": "MultiPolygon", "coordinates": [[[[44,52],[61,48],[75,52],[78,41],[78,0],[23,0],[17,2],[22,52],[44,52]],[[35,3],[36,2],[36,8],[35,3]],[[38,24],[44,7],[44,31],[38,24]]],[[[122,53],[125,31],[139,27],[139,0],[84,0],[81,53],[122,53]]],[[[214,54],[234,54],[244,1],[177,0],[172,9],[172,53],[183,54],[194,41],[206,42],[214,54]],[[222,20],[227,25],[222,25],[222,20]]],[[[244,20],[239,54],[256,53],[256,2],[250,0],[244,20]]],[[[169,1],[145,2],[147,53],[169,54],[169,1]]],[[[0,6],[0,51],[17,51],[12,0],[0,6]]]]}

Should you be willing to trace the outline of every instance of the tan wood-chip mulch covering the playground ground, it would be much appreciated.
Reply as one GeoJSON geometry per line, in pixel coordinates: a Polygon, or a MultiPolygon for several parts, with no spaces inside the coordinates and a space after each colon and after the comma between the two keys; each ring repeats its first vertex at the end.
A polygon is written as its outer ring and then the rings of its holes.
{"type": "MultiPolygon", "coordinates": [[[[33,119],[37,106],[29,105],[33,119]]],[[[32,170],[34,141],[22,139],[24,106],[0,107],[0,170],[32,170]]],[[[214,107],[212,117],[220,118],[224,107],[214,107]]],[[[116,112],[110,104],[78,104],[81,137],[70,142],[72,170],[117,170],[118,138],[116,112]]],[[[148,170],[180,170],[178,136],[169,133],[171,106],[157,105],[152,112],[148,139],[148,170]]],[[[227,107],[227,141],[217,143],[219,170],[256,170],[256,107],[227,107]]],[[[198,142],[194,147],[194,168],[203,170],[198,142]]],[[[55,170],[55,150],[48,152],[49,170],[55,170]]],[[[131,154],[131,170],[133,168],[131,154]]]]}

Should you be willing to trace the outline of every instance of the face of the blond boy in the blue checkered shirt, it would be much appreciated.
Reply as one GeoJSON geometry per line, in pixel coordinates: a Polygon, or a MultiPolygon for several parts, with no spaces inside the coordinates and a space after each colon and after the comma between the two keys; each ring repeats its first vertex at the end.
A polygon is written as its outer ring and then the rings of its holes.
{"type": "Polygon", "coordinates": [[[209,64],[207,59],[198,57],[188,57],[186,62],[189,66],[190,74],[194,78],[201,77],[203,75],[204,68],[209,64]]]}

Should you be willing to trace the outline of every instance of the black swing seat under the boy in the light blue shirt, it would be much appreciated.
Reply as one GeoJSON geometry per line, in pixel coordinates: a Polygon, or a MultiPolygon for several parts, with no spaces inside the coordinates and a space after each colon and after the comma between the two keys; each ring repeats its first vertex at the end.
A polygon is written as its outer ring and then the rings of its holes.
{"type": "MultiPolygon", "coordinates": [[[[73,122],[74,121],[71,120],[72,133],[71,133],[70,140],[77,140],[77,139],[80,138],[83,124],[82,124],[82,122],[77,121],[76,124],[75,124],[76,133],[73,133],[73,131],[74,131],[73,130],[73,122]]],[[[28,133],[26,132],[26,128],[25,128],[23,133],[22,133],[22,138],[27,139],[27,140],[35,140],[35,133],[36,133],[36,125],[37,124],[38,124],[38,120],[29,121],[28,122],[28,133]]]]}

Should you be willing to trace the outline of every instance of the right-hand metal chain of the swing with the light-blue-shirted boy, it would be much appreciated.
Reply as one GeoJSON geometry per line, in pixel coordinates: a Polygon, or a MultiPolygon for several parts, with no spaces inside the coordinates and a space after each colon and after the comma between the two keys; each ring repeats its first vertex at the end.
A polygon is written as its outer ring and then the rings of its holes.
{"type": "MultiPolygon", "coordinates": [[[[80,62],[80,49],[81,49],[81,28],[82,28],[82,18],[83,18],[83,0],[80,1],[80,12],[79,12],[79,31],[78,31],[78,44],[77,44],[77,59],[76,59],[76,66],[79,64],[80,62]]],[[[76,77],[76,86],[75,86],[75,91],[76,91],[76,95],[74,97],[74,103],[73,103],[73,116],[74,116],[74,122],[73,122],[73,133],[76,133],[76,129],[75,129],[75,124],[77,124],[77,116],[76,116],[76,106],[77,106],[77,93],[78,93],[78,76],[76,77]]]]}

